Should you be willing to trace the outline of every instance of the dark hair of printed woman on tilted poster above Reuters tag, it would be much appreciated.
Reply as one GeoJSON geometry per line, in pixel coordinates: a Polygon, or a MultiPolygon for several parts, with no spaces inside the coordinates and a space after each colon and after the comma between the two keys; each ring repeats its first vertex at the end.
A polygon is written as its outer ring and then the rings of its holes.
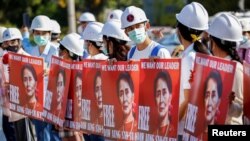
{"type": "Polygon", "coordinates": [[[218,91],[218,96],[219,98],[221,97],[222,95],[222,87],[223,87],[223,84],[222,84],[222,79],[221,79],[221,75],[220,75],[220,72],[217,71],[217,70],[212,70],[208,77],[206,78],[205,80],[205,87],[204,87],[204,95],[206,94],[206,90],[207,90],[207,85],[208,85],[208,81],[210,79],[213,79],[215,80],[215,82],[217,83],[217,91],[218,91]]]}

